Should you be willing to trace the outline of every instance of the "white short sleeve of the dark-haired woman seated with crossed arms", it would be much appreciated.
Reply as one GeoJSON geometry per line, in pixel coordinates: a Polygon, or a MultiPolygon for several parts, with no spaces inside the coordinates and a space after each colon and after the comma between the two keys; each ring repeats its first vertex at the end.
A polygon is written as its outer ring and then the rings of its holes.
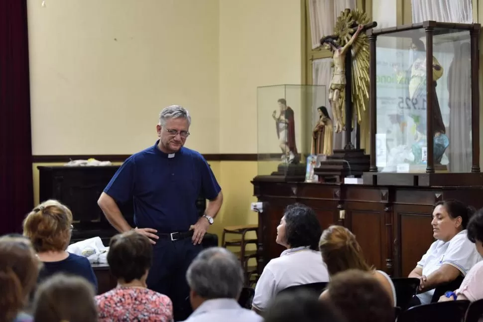
{"type": "Polygon", "coordinates": [[[450,240],[441,265],[449,264],[456,267],[465,276],[468,271],[479,261],[475,244],[466,234],[459,234],[450,240]]]}

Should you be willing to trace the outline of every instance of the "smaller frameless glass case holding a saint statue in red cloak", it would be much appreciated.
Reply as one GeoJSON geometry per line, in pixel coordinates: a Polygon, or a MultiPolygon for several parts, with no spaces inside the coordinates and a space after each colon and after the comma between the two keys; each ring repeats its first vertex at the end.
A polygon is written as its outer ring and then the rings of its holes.
{"type": "Polygon", "coordinates": [[[317,145],[314,129],[327,114],[325,102],[321,85],[257,88],[258,175],[305,178],[306,159],[317,145]]]}

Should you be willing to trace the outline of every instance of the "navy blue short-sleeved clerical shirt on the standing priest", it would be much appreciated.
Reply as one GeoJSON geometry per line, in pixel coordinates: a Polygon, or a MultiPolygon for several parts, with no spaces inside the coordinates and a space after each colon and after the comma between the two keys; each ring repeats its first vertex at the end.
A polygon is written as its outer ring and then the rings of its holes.
{"type": "Polygon", "coordinates": [[[196,200],[215,199],[221,187],[200,153],[182,147],[168,155],[158,142],[124,161],[104,192],[118,203],[133,201],[138,228],[187,231],[199,219],[196,200]]]}

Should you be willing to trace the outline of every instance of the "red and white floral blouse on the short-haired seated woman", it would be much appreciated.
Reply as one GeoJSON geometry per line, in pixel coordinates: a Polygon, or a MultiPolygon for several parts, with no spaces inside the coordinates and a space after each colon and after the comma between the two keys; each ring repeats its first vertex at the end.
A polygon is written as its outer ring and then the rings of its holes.
{"type": "Polygon", "coordinates": [[[166,296],[145,288],[117,287],[96,296],[99,321],[172,322],[173,304],[166,296]]]}

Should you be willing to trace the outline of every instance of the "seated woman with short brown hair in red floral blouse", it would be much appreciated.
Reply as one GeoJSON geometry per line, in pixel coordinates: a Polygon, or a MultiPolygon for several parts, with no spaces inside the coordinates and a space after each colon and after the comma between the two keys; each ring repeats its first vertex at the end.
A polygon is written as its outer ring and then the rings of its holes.
{"type": "Polygon", "coordinates": [[[153,250],[149,239],[133,230],[111,239],[108,263],[118,287],[96,297],[99,321],[173,321],[173,304],[146,287],[153,250]]]}

